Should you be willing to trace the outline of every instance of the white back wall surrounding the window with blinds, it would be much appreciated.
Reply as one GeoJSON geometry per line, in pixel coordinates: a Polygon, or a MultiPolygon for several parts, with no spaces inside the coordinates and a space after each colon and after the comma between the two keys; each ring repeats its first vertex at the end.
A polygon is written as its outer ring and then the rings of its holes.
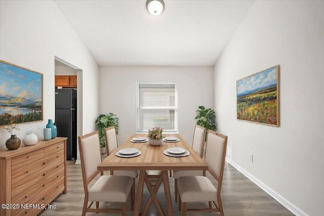
{"type": "Polygon", "coordinates": [[[191,145],[198,106],[214,108],[213,67],[99,67],[100,114],[119,118],[119,145],[136,133],[136,81],[178,83],[178,131],[191,145]]]}

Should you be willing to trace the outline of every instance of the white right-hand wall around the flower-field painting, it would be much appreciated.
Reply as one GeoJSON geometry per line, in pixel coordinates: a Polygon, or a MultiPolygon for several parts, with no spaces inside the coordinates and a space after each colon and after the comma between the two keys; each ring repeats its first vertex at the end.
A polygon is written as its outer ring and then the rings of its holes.
{"type": "Polygon", "coordinates": [[[296,215],[324,212],[323,11],[321,1],[256,1],[214,68],[231,163],[296,215]],[[277,64],[280,126],[236,120],[236,80],[277,64]]]}

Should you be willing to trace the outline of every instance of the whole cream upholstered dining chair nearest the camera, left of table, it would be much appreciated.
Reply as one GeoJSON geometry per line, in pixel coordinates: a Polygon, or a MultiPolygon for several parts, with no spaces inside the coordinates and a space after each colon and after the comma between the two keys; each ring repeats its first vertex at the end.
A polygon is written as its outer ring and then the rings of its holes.
{"type": "MultiPolygon", "coordinates": [[[[101,163],[101,151],[98,131],[78,137],[82,179],[85,189],[85,201],[82,215],[87,212],[121,212],[126,215],[126,201],[133,186],[133,180],[128,176],[103,175],[97,166],[101,163]],[[95,177],[100,177],[92,187],[95,177]],[[88,202],[91,202],[88,206],[88,202]],[[99,202],[121,202],[120,209],[99,208],[99,202]],[[96,208],[91,208],[96,202],[96,208]]],[[[133,194],[132,194],[133,195],[133,194]]],[[[134,200],[131,202],[132,210],[134,200]]]]}

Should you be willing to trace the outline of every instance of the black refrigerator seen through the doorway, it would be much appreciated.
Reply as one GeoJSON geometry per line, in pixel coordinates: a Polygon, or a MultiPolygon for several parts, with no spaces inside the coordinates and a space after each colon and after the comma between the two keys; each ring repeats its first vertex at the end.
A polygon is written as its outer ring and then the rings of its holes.
{"type": "Polygon", "coordinates": [[[58,137],[67,137],[66,160],[76,160],[76,90],[55,89],[55,125],[58,137]]]}

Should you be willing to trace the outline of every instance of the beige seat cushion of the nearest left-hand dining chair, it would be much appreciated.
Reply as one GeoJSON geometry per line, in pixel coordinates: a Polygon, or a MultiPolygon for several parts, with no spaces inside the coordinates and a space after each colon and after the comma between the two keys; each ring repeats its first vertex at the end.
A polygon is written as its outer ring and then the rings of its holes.
{"type": "Polygon", "coordinates": [[[89,190],[89,201],[126,202],[132,185],[128,176],[101,176],[89,190]]]}

